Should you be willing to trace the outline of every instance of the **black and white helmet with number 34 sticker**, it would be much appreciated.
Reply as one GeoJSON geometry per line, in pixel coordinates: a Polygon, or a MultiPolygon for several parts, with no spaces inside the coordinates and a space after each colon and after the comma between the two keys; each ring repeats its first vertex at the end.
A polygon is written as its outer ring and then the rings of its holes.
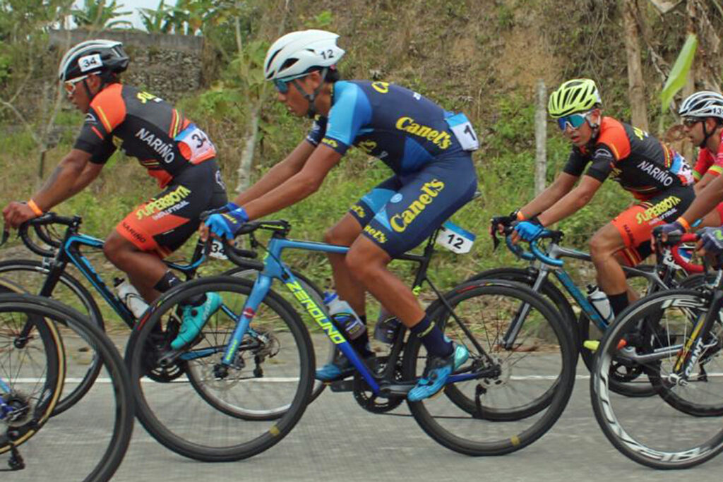
{"type": "Polygon", "coordinates": [[[120,74],[128,68],[129,60],[120,42],[86,40],[65,53],[58,77],[65,82],[87,74],[120,74]]]}

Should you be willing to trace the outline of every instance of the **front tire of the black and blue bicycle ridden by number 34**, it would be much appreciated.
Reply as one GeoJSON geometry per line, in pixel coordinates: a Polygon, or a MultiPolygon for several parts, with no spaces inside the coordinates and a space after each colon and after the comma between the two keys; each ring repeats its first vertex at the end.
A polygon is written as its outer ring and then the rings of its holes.
{"type": "MultiPolygon", "coordinates": [[[[17,273],[21,278],[15,283],[25,286],[28,283],[28,276],[30,273],[38,274],[42,276],[44,280],[44,278],[48,275],[48,268],[43,267],[42,261],[35,259],[9,259],[0,262],[0,276],[7,277],[13,273],[17,273]]],[[[68,272],[63,272],[60,275],[59,283],[64,285],[65,288],[68,288],[69,293],[72,293],[72,295],[77,298],[78,303],[74,304],[74,306],[77,306],[78,309],[82,307],[87,312],[85,314],[90,317],[96,326],[98,326],[100,330],[105,331],[103,315],[100,312],[98,304],[95,303],[95,298],[93,298],[93,295],[87,291],[87,288],[85,288],[85,286],[83,286],[77,278],[70,275],[68,272]]],[[[42,286],[42,284],[40,284],[40,286],[42,286]]],[[[64,301],[67,302],[68,300],[64,301]]],[[[90,390],[90,387],[93,387],[93,383],[95,382],[95,379],[98,378],[99,373],[100,364],[95,360],[90,361],[87,371],[85,371],[85,374],[80,377],[80,382],[75,385],[72,390],[69,390],[70,385],[66,384],[64,389],[65,392],[59,403],[56,405],[53,411],[53,416],[60,415],[78,403],[78,401],[85,396],[88,390],[90,390]]]]}

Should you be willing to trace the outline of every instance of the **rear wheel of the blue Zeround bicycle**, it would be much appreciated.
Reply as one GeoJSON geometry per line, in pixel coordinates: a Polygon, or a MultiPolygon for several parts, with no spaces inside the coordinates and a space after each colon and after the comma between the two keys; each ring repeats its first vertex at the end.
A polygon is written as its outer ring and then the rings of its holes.
{"type": "MultiPolygon", "coordinates": [[[[461,372],[479,377],[448,385],[446,397],[408,403],[412,415],[437,442],[466,455],[526,447],[552,427],[570,398],[577,356],[570,332],[544,298],[519,283],[465,283],[445,300],[464,328],[444,306],[432,317],[445,335],[469,349],[470,361],[461,372]],[[529,313],[505,348],[502,337],[522,305],[529,313]]],[[[422,374],[425,355],[419,338],[410,337],[405,379],[422,374]]]]}

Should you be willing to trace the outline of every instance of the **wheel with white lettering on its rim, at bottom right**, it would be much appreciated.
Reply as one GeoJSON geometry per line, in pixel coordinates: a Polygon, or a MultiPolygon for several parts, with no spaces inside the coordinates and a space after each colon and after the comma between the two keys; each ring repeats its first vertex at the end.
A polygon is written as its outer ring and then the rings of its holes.
{"type": "Polygon", "coordinates": [[[720,322],[704,340],[706,348],[688,382],[677,382],[680,371],[675,369],[709,304],[710,296],[698,291],[656,293],[623,311],[602,340],[590,381],[593,411],[607,439],[631,460],[653,468],[690,468],[723,450],[722,427],[716,419],[701,416],[706,408],[710,415],[721,414],[720,322]],[[616,395],[609,371],[621,362],[640,367],[659,396],[616,395]],[[689,410],[698,413],[690,416],[689,410]]]}

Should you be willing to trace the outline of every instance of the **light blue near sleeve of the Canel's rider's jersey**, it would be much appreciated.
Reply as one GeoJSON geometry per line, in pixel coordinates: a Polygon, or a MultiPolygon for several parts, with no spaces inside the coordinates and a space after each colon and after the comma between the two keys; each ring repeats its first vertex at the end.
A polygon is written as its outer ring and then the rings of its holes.
{"type": "Polygon", "coordinates": [[[343,154],[354,143],[361,126],[372,120],[372,106],[364,91],[348,82],[336,89],[335,96],[321,143],[343,154]]]}

